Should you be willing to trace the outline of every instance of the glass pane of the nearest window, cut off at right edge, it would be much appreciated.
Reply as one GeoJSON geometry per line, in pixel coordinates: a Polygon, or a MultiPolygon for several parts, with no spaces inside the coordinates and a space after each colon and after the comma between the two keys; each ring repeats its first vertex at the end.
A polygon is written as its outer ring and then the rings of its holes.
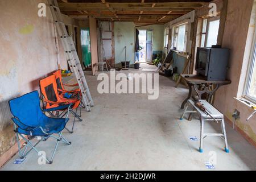
{"type": "Polygon", "coordinates": [[[254,44],[251,50],[251,58],[249,69],[247,72],[247,81],[245,87],[245,98],[251,102],[256,103],[256,41],[254,38],[254,44]]]}

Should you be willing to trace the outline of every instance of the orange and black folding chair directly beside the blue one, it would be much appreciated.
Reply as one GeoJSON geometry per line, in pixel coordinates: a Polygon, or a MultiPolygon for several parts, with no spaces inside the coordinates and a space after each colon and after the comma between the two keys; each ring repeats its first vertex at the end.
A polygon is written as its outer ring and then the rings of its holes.
{"type": "Polygon", "coordinates": [[[56,111],[57,118],[62,118],[66,113],[68,113],[67,109],[58,109],[58,108],[60,108],[63,105],[72,104],[69,111],[74,115],[75,118],[73,121],[72,130],[71,131],[68,129],[67,130],[69,131],[69,133],[73,133],[73,128],[75,125],[76,118],[79,119],[79,121],[82,121],[82,119],[80,118],[80,115],[77,114],[77,109],[80,106],[81,99],[61,97],[57,89],[55,75],[51,75],[40,80],[40,89],[41,89],[41,97],[42,97],[44,109],[46,109],[46,111],[48,109],[51,115],[54,115],[53,111],[56,111]]]}

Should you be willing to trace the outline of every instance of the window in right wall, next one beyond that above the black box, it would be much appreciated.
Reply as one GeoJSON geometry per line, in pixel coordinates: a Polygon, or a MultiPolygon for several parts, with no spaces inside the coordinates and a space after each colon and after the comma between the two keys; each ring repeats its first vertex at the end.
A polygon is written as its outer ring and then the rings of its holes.
{"type": "Polygon", "coordinates": [[[187,23],[174,28],[174,47],[177,48],[177,51],[186,51],[188,34],[187,28],[187,23]]]}

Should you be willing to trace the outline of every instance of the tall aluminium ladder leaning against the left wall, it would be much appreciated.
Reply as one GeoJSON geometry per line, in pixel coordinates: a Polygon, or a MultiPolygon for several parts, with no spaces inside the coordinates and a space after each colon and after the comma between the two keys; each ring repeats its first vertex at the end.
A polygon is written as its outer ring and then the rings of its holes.
{"type": "Polygon", "coordinates": [[[90,90],[86,82],[84,72],[79,57],[76,52],[76,47],[73,42],[72,36],[68,35],[67,29],[63,22],[63,16],[61,15],[57,0],[48,0],[53,21],[56,24],[57,34],[60,36],[61,43],[64,47],[65,56],[67,58],[71,72],[75,73],[79,88],[82,93],[82,104],[84,104],[87,111],[91,111],[90,107],[94,106],[90,90]]]}

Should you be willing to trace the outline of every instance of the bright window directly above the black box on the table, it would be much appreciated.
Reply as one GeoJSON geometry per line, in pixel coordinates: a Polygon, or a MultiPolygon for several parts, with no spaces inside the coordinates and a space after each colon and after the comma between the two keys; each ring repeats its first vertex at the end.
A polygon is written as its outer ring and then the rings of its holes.
{"type": "Polygon", "coordinates": [[[201,33],[201,47],[212,47],[217,44],[218,28],[220,27],[220,17],[203,20],[201,33]]]}

